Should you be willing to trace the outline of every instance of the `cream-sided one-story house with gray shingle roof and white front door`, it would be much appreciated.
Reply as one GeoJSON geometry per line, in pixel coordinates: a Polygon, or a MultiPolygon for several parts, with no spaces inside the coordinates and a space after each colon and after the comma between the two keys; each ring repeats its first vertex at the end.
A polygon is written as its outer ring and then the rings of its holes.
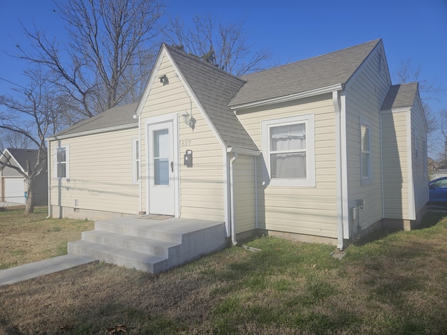
{"type": "Polygon", "coordinates": [[[163,44],[138,103],[47,138],[53,217],[166,214],[343,249],[425,211],[418,84],[383,41],[235,77],[163,44]]]}

